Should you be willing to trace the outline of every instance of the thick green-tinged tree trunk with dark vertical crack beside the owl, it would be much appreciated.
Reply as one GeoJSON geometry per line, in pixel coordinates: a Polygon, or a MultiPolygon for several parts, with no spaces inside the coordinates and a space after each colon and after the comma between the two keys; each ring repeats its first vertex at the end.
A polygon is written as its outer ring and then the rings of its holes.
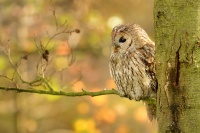
{"type": "Polygon", "coordinates": [[[159,133],[200,132],[200,1],[155,0],[159,133]]]}

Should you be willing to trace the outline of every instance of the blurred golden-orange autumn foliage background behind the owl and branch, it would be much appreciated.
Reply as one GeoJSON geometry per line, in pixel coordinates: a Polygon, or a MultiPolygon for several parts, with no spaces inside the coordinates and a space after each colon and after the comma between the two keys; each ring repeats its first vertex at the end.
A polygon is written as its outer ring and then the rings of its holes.
{"type": "MultiPolygon", "coordinates": [[[[22,78],[33,80],[38,51],[44,50],[36,46],[48,44],[45,74],[53,89],[116,88],[108,69],[111,30],[119,23],[134,22],[153,39],[152,13],[153,0],[1,0],[0,75],[14,75],[3,52],[9,47],[14,64],[20,61],[22,78]],[[76,31],[50,39],[65,27],[76,31]]],[[[30,87],[16,82],[21,88],[30,87]]],[[[14,84],[0,77],[0,86],[14,84]]],[[[117,96],[68,98],[0,91],[0,132],[156,133],[156,124],[148,123],[142,102],[117,96]]]]}

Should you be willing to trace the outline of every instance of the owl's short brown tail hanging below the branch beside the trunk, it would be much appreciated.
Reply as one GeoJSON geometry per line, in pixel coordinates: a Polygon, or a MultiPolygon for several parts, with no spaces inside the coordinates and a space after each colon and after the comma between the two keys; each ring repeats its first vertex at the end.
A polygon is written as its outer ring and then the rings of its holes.
{"type": "Polygon", "coordinates": [[[156,104],[149,103],[148,101],[144,102],[146,105],[147,115],[150,122],[156,120],[156,104]]]}

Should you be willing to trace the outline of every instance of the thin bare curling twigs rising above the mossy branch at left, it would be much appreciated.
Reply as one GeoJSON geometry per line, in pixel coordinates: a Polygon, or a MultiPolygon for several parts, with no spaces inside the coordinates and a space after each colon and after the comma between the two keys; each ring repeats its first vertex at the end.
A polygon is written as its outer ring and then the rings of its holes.
{"type": "MultiPolygon", "coordinates": [[[[11,77],[8,77],[7,75],[0,75],[1,78],[5,78],[8,79],[9,81],[11,81],[16,88],[19,88],[19,83],[20,84],[26,84],[29,85],[31,88],[34,88],[36,86],[43,86],[44,88],[48,89],[49,91],[53,91],[53,88],[50,85],[51,82],[51,77],[53,76],[53,74],[62,71],[64,69],[67,69],[69,66],[72,65],[72,63],[75,61],[75,56],[73,54],[73,50],[70,48],[70,46],[68,44],[67,47],[70,50],[70,53],[68,55],[65,55],[66,58],[68,58],[68,66],[65,68],[62,68],[62,70],[52,70],[53,73],[51,73],[50,75],[46,74],[47,68],[50,66],[50,64],[52,63],[53,59],[56,57],[51,57],[50,58],[50,50],[52,50],[53,48],[55,48],[55,45],[51,48],[51,49],[47,49],[49,43],[55,39],[56,37],[63,35],[63,34],[67,34],[68,36],[71,35],[71,33],[75,32],[75,33],[79,33],[80,30],[79,29],[74,29],[74,30],[69,30],[68,29],[68,24],[67,24],[67,20],[64,21],[64,23],[62,23],[61,25],[58,24],[58,18],[56,16],[56,11],[53,9],[53,16],[54,16],[54,21],[55,21],[55,26],[56,26],[56,31],[53,35],[50,34],[50,32],[48,31],[48,29],[45,27],[45,32],[48,36],[48,40],[45,44],[43,44],[43,40],[42,39],[37,39],[37,37],[34,37],[34,43],[36,46],[36,51],[37,51],[37,55],[39,56],[39,59],[34,60],[34,62],[36,63],[36,77],[32,80],[27,80],[24,79],[22,74],[20,73],[19,67],[22,66],[22,61],[26,61],[28,63],[28,57],[31,56],[32,53],[23,55],[18,61],[17,63],[13,62],[13,59],[11,57],[11,50],[10,50],[10,45],[9,45],[9,40],[7,42],[7,44],[3,44],[2,42],[2,36],[0,37],[0,50],[3,51],[3,53],[6,55],[9,64],[11,65],[11,67],[13,68],[14,72],[12,73],[11,77]]],[[[27,73],[29,73],[27,71],[27,73]]],[[[34,89],[35,90],[35,89],[34,89]]]]}

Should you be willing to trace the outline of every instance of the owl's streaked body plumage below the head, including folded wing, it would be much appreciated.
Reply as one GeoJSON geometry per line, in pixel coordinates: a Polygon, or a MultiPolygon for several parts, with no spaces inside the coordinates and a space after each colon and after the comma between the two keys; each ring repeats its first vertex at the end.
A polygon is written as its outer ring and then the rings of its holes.
{"type": "Polygon", "coordinates": [[[139,49],[111,52],[110,72],[119,92],[130,99],[155,98],[154,44],[139,49]]]}

